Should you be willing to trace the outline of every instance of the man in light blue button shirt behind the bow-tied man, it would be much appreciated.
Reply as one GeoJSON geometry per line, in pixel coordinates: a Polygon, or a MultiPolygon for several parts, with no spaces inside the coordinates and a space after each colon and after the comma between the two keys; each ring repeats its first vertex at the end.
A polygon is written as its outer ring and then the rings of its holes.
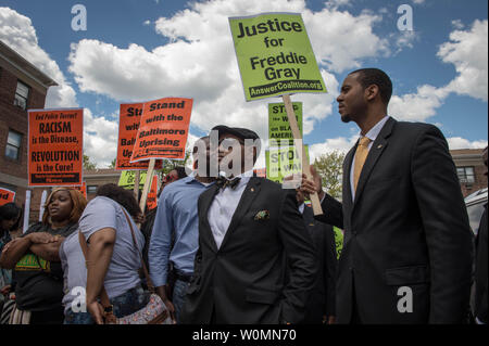
{"type": "MultiPolygon", "coordinates": [[[[199,168],[199,164],[203,166],[209,163],[209,137],[196,142],[193,148],[196,168],[199,168]],[[205,148],[205,152],[198,150],[201,146],[205,148]]],[[[215,180],[209,175],[199,174],[197,170],[191,176],[165,187],[158,203],[148,252],[151,279],[176,322],[179,322],[185,291],[193,274],[193,259],[199,236],[197,201],[215,180]],[[168,294],[170,268],[175,278],[172,297],[168,294]]]]}

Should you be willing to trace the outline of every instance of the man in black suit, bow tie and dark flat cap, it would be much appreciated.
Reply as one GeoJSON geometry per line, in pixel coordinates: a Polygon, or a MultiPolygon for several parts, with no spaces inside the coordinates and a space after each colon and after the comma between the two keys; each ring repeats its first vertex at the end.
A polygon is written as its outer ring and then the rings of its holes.
{"type": "Polygon", "coordinates": [[[234,179],[220,178],[199,197],[199,249],[181,321],[301,322],[316,265],[296,193],[252,177],[260,152],[256,133],[226,126],[213,131],[218,131],[220,168],[234,179]]]}

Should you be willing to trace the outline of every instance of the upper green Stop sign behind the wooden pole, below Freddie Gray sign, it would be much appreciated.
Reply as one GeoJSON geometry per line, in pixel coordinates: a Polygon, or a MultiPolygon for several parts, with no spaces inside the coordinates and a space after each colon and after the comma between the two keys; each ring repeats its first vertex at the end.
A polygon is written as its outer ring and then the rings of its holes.
{"type": "MultiPolygon", "coordinates": [[[[302,102],[292,102],[292,105],[302,133],[302,102]]],[[[277,141],[276,145],[271,143],[271,146],[280,146],[285,140],[288,140],[286,145],[293,145],[293,134],[284,103],[268,103],[268,138],[272,142],[277,141]]]]}

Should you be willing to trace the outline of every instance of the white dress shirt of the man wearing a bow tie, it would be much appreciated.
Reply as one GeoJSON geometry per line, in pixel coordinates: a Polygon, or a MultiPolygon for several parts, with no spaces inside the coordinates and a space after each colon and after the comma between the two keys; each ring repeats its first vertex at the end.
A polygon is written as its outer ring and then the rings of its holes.
{"type": "Polygon", "coordinates": [[[211,226],[212,235],[214,235],[217,248],[221,247],[227,229],[229,228],[233,215],[241,200],[241,195],[250,181],[250,175],[242,174],[235,189],[226,188],[221,190],[211,203],[208,213],[209,225],[211,226]]]}

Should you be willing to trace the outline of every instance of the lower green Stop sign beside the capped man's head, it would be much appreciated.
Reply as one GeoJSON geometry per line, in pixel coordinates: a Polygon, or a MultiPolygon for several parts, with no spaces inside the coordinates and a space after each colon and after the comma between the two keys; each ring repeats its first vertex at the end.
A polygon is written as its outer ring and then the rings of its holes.
{"type": "MultiPolygon", "coordinates": [[[[309,148],[304,145],[309,162],[309,148]]],[[[296,146],[271,148],[265,151],[266,178],[283,183],[284,178],[302,175],[302,161],[296,146]]]]}

